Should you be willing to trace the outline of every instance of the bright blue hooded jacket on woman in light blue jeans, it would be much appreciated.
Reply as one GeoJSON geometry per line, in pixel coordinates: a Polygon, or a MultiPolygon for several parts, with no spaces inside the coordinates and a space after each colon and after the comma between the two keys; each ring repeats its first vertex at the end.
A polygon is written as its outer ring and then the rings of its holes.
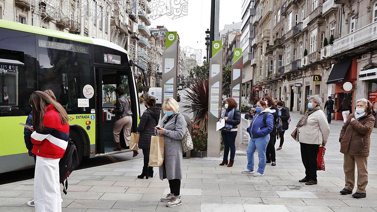
{"type": "Polygon", "coordinates": [[[274,129],[274,116],[271,114],[270,109],[264,109],[262,112],[254,115],[250,126],[247,128],[247,132],[251,138],[259,138],[266,136],[274,129]],[[266,123],[263,121],[264,113],[267,114],[266,123]]]}

